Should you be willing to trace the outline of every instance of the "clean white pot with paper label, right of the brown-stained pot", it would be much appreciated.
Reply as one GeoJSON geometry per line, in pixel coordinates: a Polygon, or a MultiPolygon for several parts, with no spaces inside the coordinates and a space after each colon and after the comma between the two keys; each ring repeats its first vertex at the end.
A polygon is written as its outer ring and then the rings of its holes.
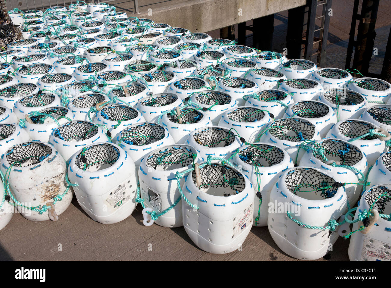
{"type": "Polygon", "coordinates": [[[94,221],[120,222],[137,205],[135,164],[113,143],[97,143],[77,152],[70,160],[68,176],[79,184],[74,187],[77,202],[94,221]]]}

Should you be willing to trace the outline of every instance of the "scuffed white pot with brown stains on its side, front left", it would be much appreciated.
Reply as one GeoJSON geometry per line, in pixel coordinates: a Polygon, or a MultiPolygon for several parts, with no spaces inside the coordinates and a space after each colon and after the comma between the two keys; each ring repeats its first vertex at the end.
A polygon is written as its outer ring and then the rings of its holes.
{"type": "MultiPolygon", "coordinates": [[[[1,170],[9,169],[9,187],[15,199],[28,207],[53,208],[53,198],[65,190],[66,165],[64,159],[51,145],[43,142],[25,142],[8,149],[2,156],[1,170]]],[[[72,189],[57,201],[55,212],[59,216],[72,201],[72,189]]],[[[22,216],[30,221],[49,220],[49,213],[39,214],[22,206],[17,206],[22,216]]],[[[57,218],[58,219],[58,218],[57,218]]]]}

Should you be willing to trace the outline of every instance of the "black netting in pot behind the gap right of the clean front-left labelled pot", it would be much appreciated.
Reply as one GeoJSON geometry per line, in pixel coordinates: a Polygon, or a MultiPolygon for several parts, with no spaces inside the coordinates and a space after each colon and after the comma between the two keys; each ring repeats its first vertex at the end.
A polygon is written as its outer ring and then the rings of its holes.
{"type": "Polygon", "coordinates": [[[128,145],[149,145],[164,138],[165,130],[159,124],[141,123],[122,130],[120,139],[128,145]]]}

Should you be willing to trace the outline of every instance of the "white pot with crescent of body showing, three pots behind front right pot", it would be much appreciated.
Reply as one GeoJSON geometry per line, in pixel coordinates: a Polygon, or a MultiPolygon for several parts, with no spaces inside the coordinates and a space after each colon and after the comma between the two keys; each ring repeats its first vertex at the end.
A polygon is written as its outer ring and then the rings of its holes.
{"type": "Polygon", "coordinates": [[[324,138],[330,127],[337,123],[334,110],[320,101],[298,101],[289,105],[283,118],[303,118],[314,124],[321,138],[324,138]]]}

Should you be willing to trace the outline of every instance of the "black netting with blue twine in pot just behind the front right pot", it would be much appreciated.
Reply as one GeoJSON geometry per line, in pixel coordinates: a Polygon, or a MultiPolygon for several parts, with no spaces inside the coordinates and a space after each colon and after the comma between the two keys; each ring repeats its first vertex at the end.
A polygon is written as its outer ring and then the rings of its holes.
{"type": "MultiPolygon", "coordinates": [[[[362,159],[362,153],[357,147],[337,139],[326,139],[321,143],[314,143],[314,148],[323,148],[328,160],[339,161],[342,165],[353,166],[362,159]]],[[[321,155],[313,153],[322,162],[326,162],[321,155]]]]}

